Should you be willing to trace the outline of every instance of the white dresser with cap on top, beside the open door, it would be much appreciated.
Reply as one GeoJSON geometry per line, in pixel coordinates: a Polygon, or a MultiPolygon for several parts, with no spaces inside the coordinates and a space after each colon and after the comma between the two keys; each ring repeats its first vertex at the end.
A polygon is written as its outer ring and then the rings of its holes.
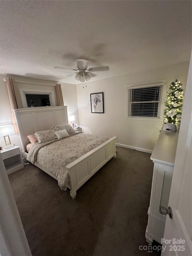
{"type": "Polygon", "coordinates": [[[164,236],[166,216],[161,215],[160,206],[168,208],[178,136],[178,127],[176,132],[162,130],[151,155],[154,169],[145,233],[146,241],[149,243],[153,240],[161,243],[164,236]]]}

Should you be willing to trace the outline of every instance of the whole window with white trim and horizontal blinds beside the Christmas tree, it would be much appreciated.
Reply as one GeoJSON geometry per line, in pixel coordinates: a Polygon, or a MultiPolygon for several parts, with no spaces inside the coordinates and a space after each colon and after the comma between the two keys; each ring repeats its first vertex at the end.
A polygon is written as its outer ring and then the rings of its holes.
{"type": "Polygon", "coordinates": [[[164,82],[127,86],[126,119],[160,119],[164,82]]]}

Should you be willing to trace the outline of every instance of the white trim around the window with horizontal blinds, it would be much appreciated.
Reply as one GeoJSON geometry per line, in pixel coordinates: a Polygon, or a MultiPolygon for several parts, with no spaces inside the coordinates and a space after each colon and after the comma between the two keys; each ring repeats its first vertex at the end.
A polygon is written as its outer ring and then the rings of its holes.
{"type": "Polygon", "coordinates": [[[126,86],[126,120],[145,120],[145,121],[163,121],[163,106],[164,106],[164,99],[166,95],[166,86],[167,85],[167,79],[163,80],[156,80],[151,82],[145,82],[145,83],[136,83],[136,84],[128,84],[126,86]],[[130,108],[130,102],[129,102],[129,89],[137,89],[137,88],[144,88],[144,87],[152,87],[152,86],[163,86],[162,92],[161,92],[161,102],[160,102],[160,115],[159,117],[149,117],[149,116],[129,116],[129,108],[130,108]]]}

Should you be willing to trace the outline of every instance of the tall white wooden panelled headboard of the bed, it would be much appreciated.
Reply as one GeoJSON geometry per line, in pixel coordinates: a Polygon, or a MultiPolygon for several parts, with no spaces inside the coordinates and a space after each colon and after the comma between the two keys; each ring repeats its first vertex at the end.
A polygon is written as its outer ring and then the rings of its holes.
{"type": "Polygon", "coordinates": [[[49,130],[54,125],[68,124],[67,106],[61,107],[28,107],[13,109],[23,151],[29,144],[27,135],[35,131],[49,130]]]}

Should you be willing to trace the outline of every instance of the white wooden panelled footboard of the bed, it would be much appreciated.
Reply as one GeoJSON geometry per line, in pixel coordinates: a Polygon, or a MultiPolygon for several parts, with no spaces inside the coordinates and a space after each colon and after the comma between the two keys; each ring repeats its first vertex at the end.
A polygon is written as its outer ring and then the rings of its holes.
{"type": "Polygon", "coordinates": [[[115,136],[107,140],[66,166],[69,172],[69,184],[67,187],[70,188],[70,195],[73,199],[76,197],[78,188],[112,157],[116,157],[116,139],[117,137],[115,136]]]}

